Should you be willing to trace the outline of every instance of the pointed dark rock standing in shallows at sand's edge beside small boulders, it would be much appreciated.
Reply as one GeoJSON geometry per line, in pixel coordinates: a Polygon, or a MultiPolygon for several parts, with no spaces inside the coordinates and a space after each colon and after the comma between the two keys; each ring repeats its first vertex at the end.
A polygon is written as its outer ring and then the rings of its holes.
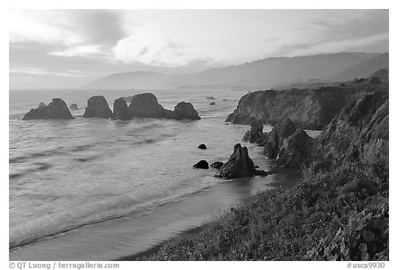
{"type": "Polygon", "coordinates": [[[229,160],[220,167],[220,171],[215,176],[225,179],[236,179],[266,174],[265,171],[257,171],[256,168],[254,168],[254,163],[249,157],[247,147],[236,144],[234,146],[234,153],[232,153],[229,160]]]}

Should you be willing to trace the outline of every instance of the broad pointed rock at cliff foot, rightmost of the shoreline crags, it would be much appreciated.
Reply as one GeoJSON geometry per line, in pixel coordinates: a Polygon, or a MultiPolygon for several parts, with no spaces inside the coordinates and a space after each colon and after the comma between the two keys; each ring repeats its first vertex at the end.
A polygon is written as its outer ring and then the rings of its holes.
{"type": "Polygon", "coordinates": [[[297,129],[283,141],[275,166],[283,168],[307,168],[314,160],[315,139],[302,129],[297,129]]]}

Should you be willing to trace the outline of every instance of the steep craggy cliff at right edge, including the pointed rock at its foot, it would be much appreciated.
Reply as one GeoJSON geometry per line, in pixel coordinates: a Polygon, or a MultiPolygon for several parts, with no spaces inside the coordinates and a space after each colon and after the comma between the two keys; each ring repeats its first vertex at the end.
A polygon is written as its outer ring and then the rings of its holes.
{"type": "Polygon", "coordinates": [[[274,165],[328,168],[356,161],[388,171],[388,93],[373,93],[351,102],[316,139],[296,130],[284,139],[274,165]]]}

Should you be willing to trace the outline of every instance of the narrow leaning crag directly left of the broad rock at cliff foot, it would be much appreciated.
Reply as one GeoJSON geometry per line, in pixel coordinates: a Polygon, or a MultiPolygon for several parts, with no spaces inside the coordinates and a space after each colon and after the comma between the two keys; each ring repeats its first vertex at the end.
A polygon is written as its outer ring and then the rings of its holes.
{"type": "Polygon", "coordinates": [[[294,131],[296,131],[296,127],[290,119],[286,118],[278,122],[268,133],[267,140],[263,144],[263,155],[268,158],[276,158],[283,146],[283,140],[292,135],[294,131]]]}

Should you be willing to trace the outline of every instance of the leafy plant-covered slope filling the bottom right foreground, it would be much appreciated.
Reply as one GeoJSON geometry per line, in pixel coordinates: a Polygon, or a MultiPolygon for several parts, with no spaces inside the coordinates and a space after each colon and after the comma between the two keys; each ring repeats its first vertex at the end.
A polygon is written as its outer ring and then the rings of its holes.
{"type": "Polygon", "coordinates": [[[388,260],[388,165],[305,171],[143,260],[388,260]]]}

